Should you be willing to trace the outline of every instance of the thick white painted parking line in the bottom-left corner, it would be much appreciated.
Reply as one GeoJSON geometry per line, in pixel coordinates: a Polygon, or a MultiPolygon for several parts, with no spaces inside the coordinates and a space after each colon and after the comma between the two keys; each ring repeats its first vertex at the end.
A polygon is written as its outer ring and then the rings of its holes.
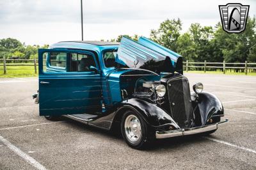
{"type": "Polygon", "coordinates": [[[40,170],[46,170],[46,168],[44,166],[42,166],[42,164],[40,164],[39,162],[37,162],[35,159],[33,159],[32,157],[30,157],[28,154],[22,152],[22,150],[20,150],[19,148],[17,148],[16,146],[12,145],[12,143],[10,143],[8,140],[4,139],[3,136],[0,136],[0,141],[6,145],[10,150],[12,150],[13,152],[15,152],[17,155],[19,155],[20,157],[22,157],[22,159],[26,160],[26,162],[28,162],[29,164],[31,164],[31,166],[35,167],[36,169],[40,169],[40,170]]]}

